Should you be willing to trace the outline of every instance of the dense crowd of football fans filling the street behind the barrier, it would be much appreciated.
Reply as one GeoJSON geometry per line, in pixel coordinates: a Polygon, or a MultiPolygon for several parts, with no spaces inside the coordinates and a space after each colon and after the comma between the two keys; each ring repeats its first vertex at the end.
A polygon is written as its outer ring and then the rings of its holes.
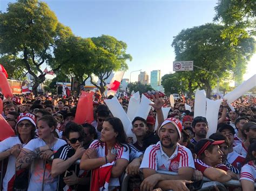
{"type": "MultiPolygon", "coordinates": [[[[217,132],[206,138],[208,122],[194,117],[194,100],[178,99],[171,107],[169,98],[156,93],[147,118],[132,121],[136,139],[127,137],[104,99],[95,93],[95,121],[83,124],[75,123],[76,96],[3,100],[2,115],[16,134],[0,142],[3,190],[118,190],[125,173],[130,175],[128,190],[189,190],[203,176],[218,182],[240,180],[236,189],[254,190],[254,97],[233,102],[235,111],[224,100],[217,132]],[[162,107],[170,107],[166,119],[162,107]]],[[[127,111],[130,97],[118,99],[127,111]]]]}

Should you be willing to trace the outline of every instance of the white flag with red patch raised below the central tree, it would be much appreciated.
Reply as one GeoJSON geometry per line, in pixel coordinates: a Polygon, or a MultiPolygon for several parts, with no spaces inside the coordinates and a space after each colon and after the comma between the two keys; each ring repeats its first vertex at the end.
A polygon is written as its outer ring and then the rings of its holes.
{"type": "Polygon", "coordinates": [[[124,71],[114,73],[114,76],[110,84],[107,84],[107,96],[115,95],[117,93],[120,83],[122,82],[123,76],[124,71]]]}

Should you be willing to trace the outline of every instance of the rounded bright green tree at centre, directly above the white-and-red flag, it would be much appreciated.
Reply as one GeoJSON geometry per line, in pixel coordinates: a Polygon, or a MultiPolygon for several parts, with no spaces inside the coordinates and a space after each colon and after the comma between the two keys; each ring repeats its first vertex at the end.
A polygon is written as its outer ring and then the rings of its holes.
{"type": "MultiPolygon", "coordinates": [[[[126,70],[128,68],[126,61],[132,60],[130,54],[126,54],[127,45],[114,37],[102,35],[91,38],[97,46],[95,53],[95,74],[99,78],[99,86],[91,80],[91,83],[104,93],[106,82],[112,71],[126,70]]],[[[91,75],[89,75],[91,77],[91,75]]],[[[91,77],[92,79],[92,77],[91,77]]]]}

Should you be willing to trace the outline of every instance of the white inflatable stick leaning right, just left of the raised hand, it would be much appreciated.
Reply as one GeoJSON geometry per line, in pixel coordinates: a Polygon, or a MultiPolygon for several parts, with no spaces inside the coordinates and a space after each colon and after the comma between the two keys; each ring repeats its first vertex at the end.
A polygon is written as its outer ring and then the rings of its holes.
{"type": "Polygon", "coordinates": [[[152,107],[151,105],[149,105],[150,103],[153,103],[153,102],[149,98],[147,98],[144,94],[142,94],[142,100],[140,101],[139,109],[137,110],[134,117],[142,117],[146,120],[147,116],[149,115],[150,109],[152,107]]]}

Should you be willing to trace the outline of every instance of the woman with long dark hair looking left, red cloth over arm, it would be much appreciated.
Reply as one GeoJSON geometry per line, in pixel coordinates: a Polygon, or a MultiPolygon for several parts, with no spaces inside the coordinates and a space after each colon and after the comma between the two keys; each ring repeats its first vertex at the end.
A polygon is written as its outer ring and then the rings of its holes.
{"type": "Polygon", "coordinates": [[[84,153],[80,169],[93,170],[90,190],[114,190],[120,186],[119,178],[129,164],[127,137],[116,117],[105,119],[101,133],[100,140],[94,140],[84,153]]]}

